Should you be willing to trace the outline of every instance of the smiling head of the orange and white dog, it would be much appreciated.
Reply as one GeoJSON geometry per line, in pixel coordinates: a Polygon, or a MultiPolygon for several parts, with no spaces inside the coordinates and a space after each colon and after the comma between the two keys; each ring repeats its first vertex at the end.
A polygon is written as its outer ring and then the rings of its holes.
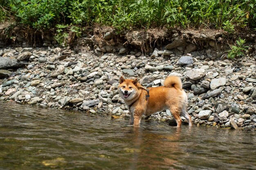
{"type": "Polygon", "coordinates": [[[120,97],[126,101],[133,99],[138,92],[138,80],[121,77],[119,83],[118,92],[120,97]]]}

